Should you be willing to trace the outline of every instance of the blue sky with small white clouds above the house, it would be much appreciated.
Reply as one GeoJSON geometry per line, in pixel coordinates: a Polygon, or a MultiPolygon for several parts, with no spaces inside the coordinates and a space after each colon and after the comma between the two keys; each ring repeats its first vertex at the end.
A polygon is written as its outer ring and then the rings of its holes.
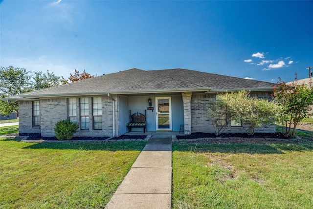
{"type": "Polygon", "coordinates": [[[288,82],[313,66],[313,1],[0,0],[0,66],[288,82]]]}

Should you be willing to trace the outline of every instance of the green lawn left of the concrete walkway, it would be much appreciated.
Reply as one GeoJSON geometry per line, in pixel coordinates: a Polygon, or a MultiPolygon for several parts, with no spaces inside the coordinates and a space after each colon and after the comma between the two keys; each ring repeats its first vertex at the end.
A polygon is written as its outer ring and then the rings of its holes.
{"type": "Polygon", "coordinates": [[[0,209],[104,208],[145,141],[0,139],[0,209]]]}

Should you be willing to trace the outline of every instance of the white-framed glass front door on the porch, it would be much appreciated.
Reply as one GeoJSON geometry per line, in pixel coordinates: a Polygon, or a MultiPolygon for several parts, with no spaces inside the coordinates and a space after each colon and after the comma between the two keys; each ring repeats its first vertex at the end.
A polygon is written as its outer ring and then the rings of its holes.
{"type": "Polygon", "coordinates": [[[172,131],[171,97],[156,97],[156,131],[172,131]]]}

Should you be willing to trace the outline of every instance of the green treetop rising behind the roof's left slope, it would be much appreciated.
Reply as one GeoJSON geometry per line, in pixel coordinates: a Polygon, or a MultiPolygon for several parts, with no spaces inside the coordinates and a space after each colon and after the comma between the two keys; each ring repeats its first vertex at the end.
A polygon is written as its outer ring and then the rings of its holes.
{"type": "Polygon", "coordinates": [[[34,74],[34,90],[45,89],[53,86],[59,86],[61,83],[60,76],[56,76],[53,72],[47,70],[46,73],[35,72],[34,74]]]}

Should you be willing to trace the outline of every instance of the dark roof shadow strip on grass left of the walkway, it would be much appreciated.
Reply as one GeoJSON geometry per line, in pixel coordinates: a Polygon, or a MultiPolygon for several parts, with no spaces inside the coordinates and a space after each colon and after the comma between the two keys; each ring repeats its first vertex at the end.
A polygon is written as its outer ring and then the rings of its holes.
{"type": "Polygon", "coordinates": [[[106,151],[141,151],[146,141],[121,142],[45,142],[31,144],[23,149],[72,149],[72,150],[106,150],[106,151]]]}

